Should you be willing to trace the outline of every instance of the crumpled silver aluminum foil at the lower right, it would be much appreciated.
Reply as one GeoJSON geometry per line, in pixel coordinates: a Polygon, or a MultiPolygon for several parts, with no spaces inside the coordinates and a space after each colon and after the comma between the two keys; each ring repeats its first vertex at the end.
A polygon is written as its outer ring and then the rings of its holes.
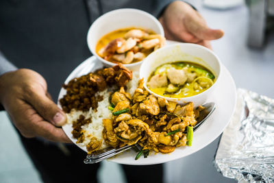
{"type": "Polygon", "coordinates": [[[242,88],[237,95],[214,166],[238,182],[274,182],[274,99],[242,88]]]}

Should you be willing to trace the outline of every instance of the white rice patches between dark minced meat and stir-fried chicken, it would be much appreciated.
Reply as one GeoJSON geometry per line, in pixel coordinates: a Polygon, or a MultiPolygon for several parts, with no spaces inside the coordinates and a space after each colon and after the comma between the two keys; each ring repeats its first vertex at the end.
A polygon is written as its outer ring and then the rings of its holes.
{"type": "MultiPolygon", "coordinates": [[[[130,95],[134,95],[134,91],[136,90],[138,86],[139,81],[139,75],[138,72],[132,73],[132,80],[127,83],[127,90],[126,92],[130,95]]],[[[70,113],[66,114],[66,117],[68,119],[68,123],[72,125],[73,121],[77,121],[79,118],[79,115],[84,115],[86,119],[90,118],[91,123],[88,123],[86,125],[82,126],[82,129],[85,130],[84,136],[85,140],[83,143],[79,143],[78,145],[82,147],[86,147],[88,143],[90,143],[90,139],[92,137],[96,137],[99,141],[102,140],[102,145],[100,149],[103,149],[105,147],[108,147],[108,145],[103,140],[103,119],[110,119],[112,116],[112,112],[108,109],[108,106],[110,106],[109,97],[110,93],[114,91],[114,87],[108,88],[106,90],[103,90],[102,92],[97,93],[98,95],[103,96],[103,100],[98,102],[98,108],[97,112],[95,110],[90,110],[88,112],[82,112],[79,110],[72,110],[70,113]]]]}

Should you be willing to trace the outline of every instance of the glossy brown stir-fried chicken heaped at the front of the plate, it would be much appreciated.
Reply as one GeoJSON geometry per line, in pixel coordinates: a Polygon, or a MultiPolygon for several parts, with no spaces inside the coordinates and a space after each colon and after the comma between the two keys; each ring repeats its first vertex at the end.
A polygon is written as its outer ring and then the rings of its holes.
{"type": "Polygon", "coordinates": [[[128,112],[112,116],[112,127],[105,127],[106,141],[113,147],[122,147],[138,143],[143,149],[155,152],[171,153],[175,147],[186,146],[184,131],[188,125],[196,125],[196,117],[201,108],[193,112],[193,103],[180,106],[175,101],[167,101],[149,95],[143,88],[143,80],[139,81],[132,99],[128,99],[122,87],[120,91],[111,96],[111,101],[116,103],[113,112],[129,108],[128,112]],[[122,92],[122,93],[121,93],[122,92]],[[123,96],[123,97],[121,97],[123,96]],[[117,102],[116,102],[117,101],[117,102]],[[110,138],[116,138],[115,143],[110,143],[110,138]]]}

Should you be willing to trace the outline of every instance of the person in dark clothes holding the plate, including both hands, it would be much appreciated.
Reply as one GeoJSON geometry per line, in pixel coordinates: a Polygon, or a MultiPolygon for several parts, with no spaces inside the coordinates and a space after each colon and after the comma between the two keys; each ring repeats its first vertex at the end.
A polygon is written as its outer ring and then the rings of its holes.
{"type": "MultiPolygon", "coordinates": [[[[60,128],[66,114],[53,99],[66,76],[91,56],[86,45],[90,23],[116,8],[158,16],[169,40],[211,48],[210,40],[223,36],[184,1],[1,1],[0,103],[44,182],[97,182],[99,164],[84,164],[85,152],[69,144],[60,128]]],[[[124,170],[128,182],[162,182],[160,165],[124,170]]]]}

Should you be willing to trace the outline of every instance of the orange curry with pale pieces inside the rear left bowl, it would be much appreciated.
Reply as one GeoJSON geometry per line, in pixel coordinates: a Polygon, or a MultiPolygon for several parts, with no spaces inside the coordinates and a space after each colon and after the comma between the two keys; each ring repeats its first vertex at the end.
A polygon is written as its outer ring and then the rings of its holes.
{"type": "Polygon", "coordinates": [[[152,51],[163,47],[165,38],[150,30],[140,28],[118,29],[103,36],[96,46],[96,53],[114,63],[139,62],[152,51]]]}

